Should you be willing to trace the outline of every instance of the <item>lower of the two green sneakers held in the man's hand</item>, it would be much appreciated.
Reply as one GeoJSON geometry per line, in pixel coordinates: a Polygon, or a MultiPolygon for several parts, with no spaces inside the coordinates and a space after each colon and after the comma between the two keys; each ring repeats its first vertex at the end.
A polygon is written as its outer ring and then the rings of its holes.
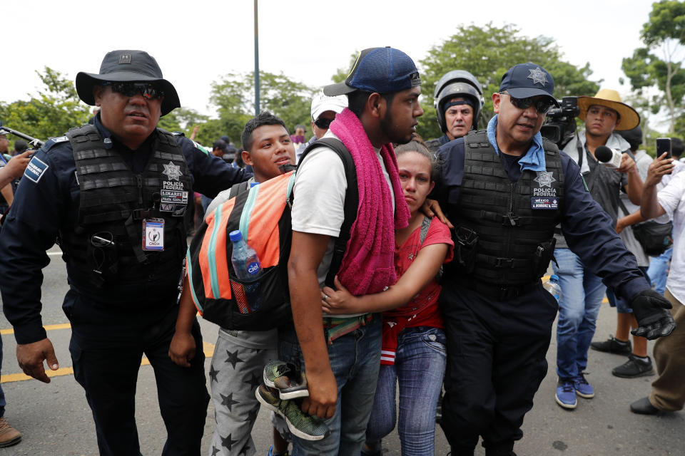
{"type": "Polygon", "coordinates": [[[278,390],[275,388],[262,383],[255,391],[255,396],[266,408],[283,417],[293,435],[304,440],[321,440],[330,435],[328,426],[322,420],[303,413],[294,400],[278,398],[278,390]]]}

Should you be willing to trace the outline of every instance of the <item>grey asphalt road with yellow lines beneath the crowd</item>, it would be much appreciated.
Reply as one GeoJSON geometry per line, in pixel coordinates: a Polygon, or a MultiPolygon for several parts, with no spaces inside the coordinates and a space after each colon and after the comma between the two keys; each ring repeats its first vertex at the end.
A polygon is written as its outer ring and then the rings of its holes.
{"type": "MultiPolygon", "coordinates": [[[[64,263],[59,254],[51,256],[44,270],[43,322],[49,328],[60,362],[61,375],[51,378],[50,384],[24,377],[16,363],[16,344],[11,326],[0,316],[4,363],[2,388],[6,395],[5,416],[23,434],[19,445],[0,449],[0,455],[97,455],[93,420],[81,387],[71,375],[68,341],[71,331],[61,311],[61,301],[67,289],[64,263]]],[[[599,314],[595,340],[604,340],[614,332],[616,316],[608,305],[599,314]]],[[[217,330],[202,322],[205,343],[216,340],[217,330]]],[[[205,345],[211,351],[211,345],[205,345]]],[[[651,351],[651,344],[650,344],[651,351]]],[[[533,410],[526,416],[524,437],[515,450],[519,456],[632,456],[685,455],[685,415],[673,413],[661,418],[634,415],[629,403],[649,394],[654,377],[626,380],[613,377],[611,368],[624,362],[621,356],[591,351],[588,380],[597,392],[592,400],[579,398],[576,410],[559,408],[554,402],[556,375],[554,340],[547,353],[552,366],[535,398],[533,410]]],[[[205,362],[209,369],[210,360],[205,362]]],[[[685,379],[684,379],[685,381],[685,379]]],[[[159,455],[166,439],[166,430],[159,416],[156,387],[150,366],[141,366],[138,375],[136,420],[143,455],[159,455]]],[[[207,454],[213,432],[213,405],[210,403],[205,423],[203,454],[207,454]]],[[[260,411],[253,437],[258,455],[266,455],[270,446],[270,421],[260,411]]],[[[436,455],[449,451],[440,427],[436,430],[436,455]]],[[[396,433],[384,442],[384,455],[400,455],[396,433]]],[[[484,455],[479,447],[477,455],[484,455]]]]}

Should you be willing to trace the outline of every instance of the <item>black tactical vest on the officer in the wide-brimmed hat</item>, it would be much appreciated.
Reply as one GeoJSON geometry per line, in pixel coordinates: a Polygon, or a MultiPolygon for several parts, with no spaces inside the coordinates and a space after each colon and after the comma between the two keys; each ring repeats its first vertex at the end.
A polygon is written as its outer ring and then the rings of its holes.
{"type": "Polygon", "coordinates": [[[66,261],[93,284],[178,279],[186,253],[183,214],[193,204],[191,175],[173,135],[160,129],[155,134],[145,170],[133,174],[118,153],[104,147],[93,125],[66,133],[80,202],[75,229],[60,232],[59,240],[66,261]],[[143,219],[151,217],[164,219],[162,252],[143,251],[143,219]]]}

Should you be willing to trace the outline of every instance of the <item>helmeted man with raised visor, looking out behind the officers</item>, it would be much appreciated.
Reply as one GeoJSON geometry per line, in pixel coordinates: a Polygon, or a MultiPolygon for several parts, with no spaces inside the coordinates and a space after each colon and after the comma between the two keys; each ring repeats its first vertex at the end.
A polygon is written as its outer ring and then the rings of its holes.
{"type": "Polygon", "coordinates": [[[433,105],[437,123],[445,135],[426,141],[428,149],[437,152],[441,145],[477,128],[483,103],[483,89],[468,71],[455,70],[442,76],[435,84],[433,105]]]}

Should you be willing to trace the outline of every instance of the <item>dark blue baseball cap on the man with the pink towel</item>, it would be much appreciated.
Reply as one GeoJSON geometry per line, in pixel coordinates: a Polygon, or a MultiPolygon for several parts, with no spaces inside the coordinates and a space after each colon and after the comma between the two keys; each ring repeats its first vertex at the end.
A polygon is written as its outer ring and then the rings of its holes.
{"type": "Polygon", "coordinates": [[[410,56],[390,47],[368,48],[359,53],[347,79],[325,86],[323,93],[330,97],[355,90],[395,93],[420,85],[419,71],[410,56]]]}

